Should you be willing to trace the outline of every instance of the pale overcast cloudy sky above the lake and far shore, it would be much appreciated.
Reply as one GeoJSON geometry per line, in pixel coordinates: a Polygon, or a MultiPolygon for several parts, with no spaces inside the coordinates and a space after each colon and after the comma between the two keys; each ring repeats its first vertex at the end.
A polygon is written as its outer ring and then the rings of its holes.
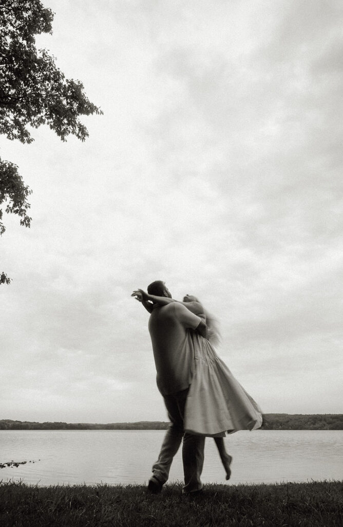
{"type": "Polygon", "coordinates": [[[0,418],[166,421],[130,297],[155,279],[264,413],[342,413],[341,2],[43,3],[104,115],[1,138],[33,194],[0,240],[0,418]]]}

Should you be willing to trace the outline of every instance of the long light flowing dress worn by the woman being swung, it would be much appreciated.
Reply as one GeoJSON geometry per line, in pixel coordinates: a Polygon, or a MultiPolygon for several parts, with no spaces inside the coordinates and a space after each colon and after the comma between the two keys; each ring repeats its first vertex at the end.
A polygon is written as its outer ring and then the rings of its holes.
{"type": "Polygon", "coordinates": [[[255,430],[262,414],[254,399],[231,374],[213,346],[194,331],[195,368],[185,407],[185,430],[192,434],[225,436],[255,430]]]}

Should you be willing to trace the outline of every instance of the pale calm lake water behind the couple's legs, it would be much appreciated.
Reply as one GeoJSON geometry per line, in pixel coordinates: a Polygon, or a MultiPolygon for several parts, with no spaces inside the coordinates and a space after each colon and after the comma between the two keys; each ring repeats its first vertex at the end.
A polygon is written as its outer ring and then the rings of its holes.
{"type": "MultiPolygon", "coordinates": [[[[163,430],[1,430],[0,481],[38,485],[147,483],[163,430]],[[30,463],[31,461],[31,463],[30,463]]],[[[225,438],[233,456],[225,481],[212,438],[206,439],[204,483],[280,483],[343,479],[343,431],[256,430],[225,438]]],[[[169,482],[183,480],[181,448],[169,482]]]]}

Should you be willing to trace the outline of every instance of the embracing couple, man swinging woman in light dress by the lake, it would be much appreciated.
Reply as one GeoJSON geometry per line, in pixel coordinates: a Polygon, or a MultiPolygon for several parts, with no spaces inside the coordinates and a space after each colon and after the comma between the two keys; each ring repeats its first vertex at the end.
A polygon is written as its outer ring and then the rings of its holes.
{"type": "Polygon", "coordinates": [[[150,284],[147,293],[138,289],[132,296],[150,313],[157,387],[170,421],[148,489],[156,494],[162,490],[183,441],[183,492],[198,493],[203,488],[205,437],[214,437],[229,479],[232,458],[223,437],[259,428],[260,408],[216,354],[214,319],[196,297],[186,295],[178,302],[161,280],[150,284]]]}

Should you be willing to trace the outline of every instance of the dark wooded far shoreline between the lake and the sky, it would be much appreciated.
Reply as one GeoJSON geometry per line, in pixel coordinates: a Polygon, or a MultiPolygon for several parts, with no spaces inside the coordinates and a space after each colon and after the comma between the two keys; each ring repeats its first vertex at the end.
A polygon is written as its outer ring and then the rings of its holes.
{"type": "MultiPolygon", "coordinates": [[[[64,423],[0,419],[0,430],[166,430],[165,421],[64,423]]],[[[263,414],[259,430],[343,430],[343,414],[263,414]]]]}

